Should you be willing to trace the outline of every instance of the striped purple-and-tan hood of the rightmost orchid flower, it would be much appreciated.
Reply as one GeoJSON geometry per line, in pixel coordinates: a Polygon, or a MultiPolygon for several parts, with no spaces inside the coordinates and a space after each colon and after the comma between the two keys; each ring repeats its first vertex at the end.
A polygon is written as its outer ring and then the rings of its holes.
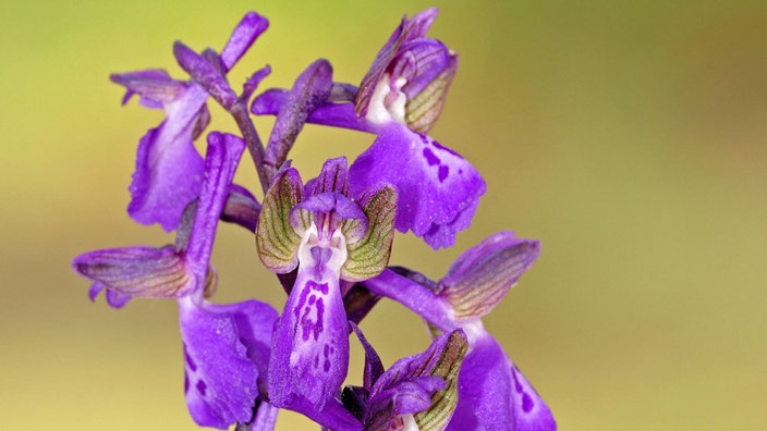
{"type": "Polygon", "coordinates": [[[439,295],[458,319],[478,319],[495,308],[540,255],[540,243],[499,232],[467,249],[440,280],[439,295]]]}

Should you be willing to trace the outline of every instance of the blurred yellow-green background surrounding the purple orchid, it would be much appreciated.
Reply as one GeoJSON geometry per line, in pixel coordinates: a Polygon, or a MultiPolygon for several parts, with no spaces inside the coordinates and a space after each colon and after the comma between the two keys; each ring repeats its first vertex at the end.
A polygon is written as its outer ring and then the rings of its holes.
{"type": "MultiPolygon", "coordinates": [[[[488,192],[455,248],[398,235],[392,263],[439,278],[492,232],[543,241],[486,327],[562,430],[767,429],[767,3],[699,0],[3,2],[0,429],[195,429],[175,305],[90,304],[69,267],[172,241],[125,213],[136,144],[162,115],[121,107],[109,73],[182,77],[174,40],[220,49],[256,10],[271,27],[233,84],[268,63],[264,88],[288,86],[318,57],[356,84],[402,14],[429,5],[430,35],[460,54],[431,135],[488,192]]],[[[309,126],[293,158],[309,177],[369,141],[309,126]]],[[[238,181],[257,190],[246,165],[238,181]]],[[[281,308],[244,231],[220,227],[214,263],[218,301],[281,308]]],[[[428,341],[387,301],[363,330],[387,366],[428,341]]],[[[278,428],[312,429],[291,414],[278,428]]]]}

